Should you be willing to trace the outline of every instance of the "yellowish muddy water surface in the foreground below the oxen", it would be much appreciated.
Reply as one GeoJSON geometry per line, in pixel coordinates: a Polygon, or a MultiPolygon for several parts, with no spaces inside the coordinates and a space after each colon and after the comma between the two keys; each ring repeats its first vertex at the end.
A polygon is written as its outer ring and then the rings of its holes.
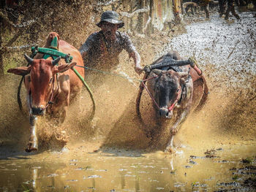
{"type": "Polygon", "coordinates": [[[0,191],[252,191],[244,181],[256,174],[255,146],[218,148],[210,156],[182,150],[176,155],[107,150],[7,158],[0,161],[0,191]]]}

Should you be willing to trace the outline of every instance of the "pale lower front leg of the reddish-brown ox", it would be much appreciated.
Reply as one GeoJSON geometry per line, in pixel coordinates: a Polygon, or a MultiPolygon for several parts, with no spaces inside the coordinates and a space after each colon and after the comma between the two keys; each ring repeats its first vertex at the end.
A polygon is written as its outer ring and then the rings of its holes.
{"type": "Polygon", "coordinates": [[[28,147],[26,147],[26,152],[31,152],[32,150],[37,150],[37,116],[29,115],[29,124],[30,124],[30,138],[28,147]]]}

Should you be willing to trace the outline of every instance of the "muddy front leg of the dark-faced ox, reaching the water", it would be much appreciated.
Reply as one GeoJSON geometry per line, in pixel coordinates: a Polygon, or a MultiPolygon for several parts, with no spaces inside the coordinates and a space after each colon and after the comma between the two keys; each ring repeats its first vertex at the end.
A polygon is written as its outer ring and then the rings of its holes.
{"type": "Polygon", "coordinates": [[[170,153],[175,152],[175,149],[173,147],[173,139],[174,139],[174,136],[177,134],[178,128],[180,127],[181,123],[187,118],[188,112],[189,112],[189,110],[185,110],[184,112],[182,112],[181,116],[178,118],[178,120],[176,121],[174,126],[171,128],[170,142],[168,142],[168,145],[165,148],[165,152],[170,152],[170,153]]]}

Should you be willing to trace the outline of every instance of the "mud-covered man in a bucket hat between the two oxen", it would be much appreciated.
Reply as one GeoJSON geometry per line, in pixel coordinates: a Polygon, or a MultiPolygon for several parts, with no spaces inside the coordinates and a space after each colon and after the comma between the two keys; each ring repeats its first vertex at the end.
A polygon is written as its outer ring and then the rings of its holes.
{"type": "Polygon", "coordinates": [[[135,72],[143,72],[140,66],[140,55],[132,45],[129,36],[117,31],[124,26],[124,22],[118,20],[118,13],[106,11],[102,13],[101,20],[97,23],[101,31],[91,34],[80,47],[80,53],[88,66],[97,69],[111,69],[118,65],[118,55],[122,50],[129,53],[135,63],[135,72]]]}

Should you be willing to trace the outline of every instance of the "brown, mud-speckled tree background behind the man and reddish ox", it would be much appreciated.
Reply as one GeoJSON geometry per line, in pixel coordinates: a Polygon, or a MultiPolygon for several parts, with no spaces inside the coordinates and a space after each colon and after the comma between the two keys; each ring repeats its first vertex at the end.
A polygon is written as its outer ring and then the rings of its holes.
{"type": "MultiPolygon", "coordinates": [[[[180,0],[176,0],[180,1],[180,0]]],[[[1,0],[0,75],[24,66],[23,54],[42,47],[51,31],[76,48],[94,31],[105,10],[115,10],[124,20],[121,31],[130,35],[162,31],[173,20],[173,0],[1,0]]],[[[140,36],[141,37],[141,36],[140,36]]],[[[135,42],[136,45],[136,42],[135,42]]]]}

